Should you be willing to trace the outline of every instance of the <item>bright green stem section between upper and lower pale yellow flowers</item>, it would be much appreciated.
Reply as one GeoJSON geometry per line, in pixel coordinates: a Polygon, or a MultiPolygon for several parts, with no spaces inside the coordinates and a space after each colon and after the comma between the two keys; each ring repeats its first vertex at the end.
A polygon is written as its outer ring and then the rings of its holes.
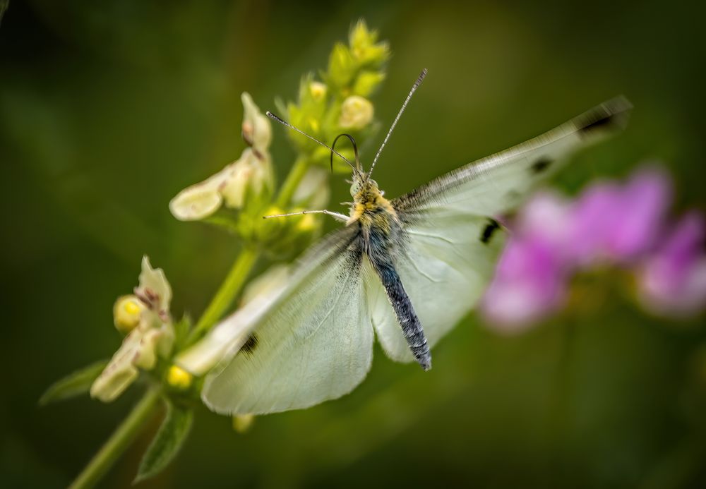
{"type": "Polygon", "coordinates": [[[189,341],[186,344],[191,344],[193,340],[200,338],[210,327],[215,325],[222,315],[225,314],[233,302],[233,298],[238,294],[242,286],[245,284],[245,279],[248,278],[250,270],[255,265],[258,259],[258,251],[252,247],[243,248],[238,258],[233,263],[233,266],[228,272],[227,277],[216,292],[216,295],[208,304],[208,307],[199,318],[196,326],[189,335],[189,341]]]}

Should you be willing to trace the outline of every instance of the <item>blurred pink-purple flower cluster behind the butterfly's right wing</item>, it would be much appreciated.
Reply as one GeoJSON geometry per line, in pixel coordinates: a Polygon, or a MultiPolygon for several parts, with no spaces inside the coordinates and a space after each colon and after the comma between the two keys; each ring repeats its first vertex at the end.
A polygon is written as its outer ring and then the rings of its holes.
{"type": "Polygon", "coordinates": [[[706,224],[697,212],[669,224],[671,193],[657,168],[623,184],[595,183],[576,200],[539,193],[510,224],[481,311],[500,330],[522,330],[563,306],[574,274],[612,266],[635,275],[638,301],[652,313],[698,313],[706,306],[706,224]]]}

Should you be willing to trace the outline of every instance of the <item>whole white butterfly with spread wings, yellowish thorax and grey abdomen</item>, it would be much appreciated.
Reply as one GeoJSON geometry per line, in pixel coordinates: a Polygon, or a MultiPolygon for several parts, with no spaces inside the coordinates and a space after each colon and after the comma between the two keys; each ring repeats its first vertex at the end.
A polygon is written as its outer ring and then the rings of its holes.
{"type": "Polygon", "coordinates": [[[612,99],[388,200],[371,174],[424,76],[426,70],[368,172],[355,146],[354,166],[335,151],[335,141],[324,145],[352,167],[349,215],[302,212],[344,225],[313,245],[287,285],[256,306],[233,353],[205,378],[202,399],[213,411],[273,413],[341,397],[366,377],[374,337],[393,360],[429,370],[431,347],[474,308],[493,275],[506,234],[496,217],[517,207],[572,152],[623,128],[631,109],[623,97],[612,99]]]}

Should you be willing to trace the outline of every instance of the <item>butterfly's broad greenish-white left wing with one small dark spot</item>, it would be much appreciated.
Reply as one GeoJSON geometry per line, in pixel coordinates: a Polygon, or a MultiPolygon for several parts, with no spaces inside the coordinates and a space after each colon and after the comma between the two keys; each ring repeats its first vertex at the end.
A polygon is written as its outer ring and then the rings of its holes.
{"type": "Polygon", "coordinates": [[[347,394],[365,378],[373,328],[357,230],[337,231],[307,257],[251,326],[248,342],[206,378],[202,399],[213,411],[303,409],[347,394]]]}

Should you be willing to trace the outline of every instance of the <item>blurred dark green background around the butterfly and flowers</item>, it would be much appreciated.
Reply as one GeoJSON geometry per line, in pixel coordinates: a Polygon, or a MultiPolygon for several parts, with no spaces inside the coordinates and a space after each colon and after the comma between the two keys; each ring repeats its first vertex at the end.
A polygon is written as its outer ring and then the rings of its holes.
{"type": "MultiPolygon", "coordinates": [[[[263,109],[293,99],[362,16],[393,49],[373,98],[384,126],[429,68],[376,170],[387,195],[622,93],[635,105],[628,131],[582,152],[558,184],[576,191],[659,159],[677,209],[703,207],[704,13],[663,1],[11,1],[0,25],[0,485],[66,485],[137,399],[133,387],[109,405],[37,407],[49,383],[116,349],[112,304],[144,253],[172,282],[174,311],[198,315],[217,289],[237,243],[177,222],[167,203],[240,154],[243,90],[263,109]]],[[[273,155],[281,178],[292,152],[280,128],[273,155]]],[[[342,178],[333,188],[345,200],[342,178]]],[[[177,463],[142,486],[704,487],[701,320],[654,320],[613,285],[599,307],[517,337],[471,316],[430,373],[376,346],[351,395],[258,418],[244,435],[201,409],[177,463]]],[[[104,487],[129,485],[149,439],[104,487]]]]}

